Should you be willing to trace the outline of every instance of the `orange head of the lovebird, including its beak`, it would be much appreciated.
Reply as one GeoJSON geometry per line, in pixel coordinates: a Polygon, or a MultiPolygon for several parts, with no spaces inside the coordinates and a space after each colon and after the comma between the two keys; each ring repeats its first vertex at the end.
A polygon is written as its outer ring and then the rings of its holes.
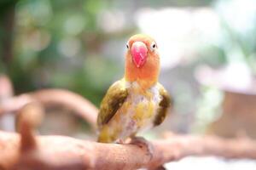
{"type": "Polygon", "coordinates": [[[150,88],[158,81],[160,57],[152,37],[143,34],[132,36],[127,42],[125,79],[150,88]]]}

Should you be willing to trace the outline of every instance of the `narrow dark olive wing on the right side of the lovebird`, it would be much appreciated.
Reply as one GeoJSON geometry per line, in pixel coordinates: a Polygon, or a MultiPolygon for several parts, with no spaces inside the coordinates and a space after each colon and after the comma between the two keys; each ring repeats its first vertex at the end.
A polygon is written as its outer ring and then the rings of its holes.
{"type": "Polygon", "coordinates": [[[169,108],[172,107],[172,97],[168,94],[166,89],[158,83],[158,88],[161,96],[159,109],[157,111],[156,116],[154,117],[154,126],[158,126],[163,122],[166,118],[169,108]]]}

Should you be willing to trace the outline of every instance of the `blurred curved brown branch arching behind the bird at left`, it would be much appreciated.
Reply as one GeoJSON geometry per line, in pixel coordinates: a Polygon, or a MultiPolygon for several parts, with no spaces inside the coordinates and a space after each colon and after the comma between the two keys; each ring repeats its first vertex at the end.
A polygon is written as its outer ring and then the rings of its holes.
{"type": "Polygon", "coordinates": [[[31,102],[39,102],[42,105],[62,105],[73,110],[96,128],[97,108],[89,100],[84,99],[79,94],[74,94],[64,89],[44,89],[29,94],[20,94],[10,99],[6,99],[0,104],[0,115],[5,112],[19,111],[24,105],[31,102]]]}

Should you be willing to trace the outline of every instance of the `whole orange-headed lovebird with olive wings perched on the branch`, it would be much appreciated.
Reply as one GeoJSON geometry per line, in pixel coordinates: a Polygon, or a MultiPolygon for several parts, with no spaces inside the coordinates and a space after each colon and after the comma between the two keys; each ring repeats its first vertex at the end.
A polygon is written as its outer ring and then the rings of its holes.
{"type": "Polygon", "coordinates": [[[108,88],[102,99],[97,125],[98,142],[122,143],[160,125],[172,98],[158,82],[160,56],[152,37],[132,36],[126,44],[125,75],[108,88]]]}

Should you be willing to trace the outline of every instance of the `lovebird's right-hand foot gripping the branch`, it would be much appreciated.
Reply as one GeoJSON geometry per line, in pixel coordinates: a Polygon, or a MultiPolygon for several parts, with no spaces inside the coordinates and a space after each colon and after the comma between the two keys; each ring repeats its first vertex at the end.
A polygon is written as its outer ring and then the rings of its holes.
{"type": "Polygon", "coordinates": [[[150,160],[153,158],[153,145],[149,143],[147,139],[144,139],[143,137],[132,137],[130,144],[136,144],[138,147],[146,150],[147,155],[150,157],[150,160]]]}

